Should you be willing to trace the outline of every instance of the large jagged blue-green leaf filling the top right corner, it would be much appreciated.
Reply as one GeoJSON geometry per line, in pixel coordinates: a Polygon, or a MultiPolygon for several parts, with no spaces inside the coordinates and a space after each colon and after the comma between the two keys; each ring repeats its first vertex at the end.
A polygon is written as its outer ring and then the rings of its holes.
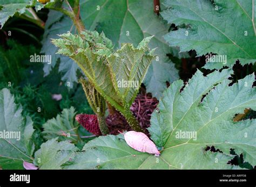
{"type": "Polygon", "coordinates": [[[196,50],[197,55],[213,53],[205,68],[231,67],[235,61],[241,64],[256,61],[256,6],[254,0],[166,0],[167,10],[161,15],[169,23],[187,25],[165,35],[171,46],[181,51],[196,50]],[[227,61],[222,60],[225,55],[227,61]]]}

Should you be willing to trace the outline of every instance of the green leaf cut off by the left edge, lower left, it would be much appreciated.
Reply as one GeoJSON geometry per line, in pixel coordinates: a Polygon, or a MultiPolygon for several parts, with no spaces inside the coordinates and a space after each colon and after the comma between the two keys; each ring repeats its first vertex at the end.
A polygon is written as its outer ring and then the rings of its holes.
{"type": "Polygon", "coordinates": [[[22,107],[14,103],[14,96],[8,89],[0,91],[0,167],[22,169],[23,160],[32,162],[34,145],[31,141],[33,122],[22,117],[22,107]],[[6,136],[13,134],[14,136],[6,136]],[[16,135],[15,135],[16,134],[16,135]],[[20,135],[20,136],[19,136],[20,135]],[[11,167],[9,167],[11,166],[11,167]]]}

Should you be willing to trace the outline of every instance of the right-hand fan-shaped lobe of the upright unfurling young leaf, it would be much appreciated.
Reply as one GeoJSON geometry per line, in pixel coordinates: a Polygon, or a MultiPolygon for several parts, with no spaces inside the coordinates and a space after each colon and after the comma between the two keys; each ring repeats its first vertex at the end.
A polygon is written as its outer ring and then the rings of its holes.
{"type": "Polygon", "coordinates": [[[111,75],[116,81],[114,88],[118,91],[119,96],[123,97],[126,103],[129,103],[129,106],[137,96],[140,84],[142,84],[147,69],[154,59],[153,50],[150,51],[147,47],[151,38],[143,39],[137,48],[134,48],[132,44],[123,44],[120,50],[107,57],[111,75]],[[145,54],[147,51],[150,51],[150,54],[145,54]],[[118,83],[122,81],[134,83],[134,85],[126,88],[122,85],[120,87],[118,83]]]}

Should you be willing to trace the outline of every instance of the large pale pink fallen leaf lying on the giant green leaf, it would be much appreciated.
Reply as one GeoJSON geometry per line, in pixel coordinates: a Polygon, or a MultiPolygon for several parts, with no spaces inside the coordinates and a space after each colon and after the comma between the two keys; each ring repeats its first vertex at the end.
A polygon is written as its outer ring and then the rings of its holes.
{"type": "Polygon", "coordinates": [[[160,155],[153,141],[142,132],[129,131],[124,134],[126,143],[139,152],[151,153],[156,156],[160,155]]]}

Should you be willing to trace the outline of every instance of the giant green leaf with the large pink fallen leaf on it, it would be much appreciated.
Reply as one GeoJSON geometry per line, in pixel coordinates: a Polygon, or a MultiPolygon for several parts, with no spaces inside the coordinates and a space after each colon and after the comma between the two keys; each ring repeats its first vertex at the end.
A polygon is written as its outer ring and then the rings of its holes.
{"type": "Polygon", "coordinates": [[[204,76],[201,71],[184,85],[171,84],[151,117],[149,132],[159,157],[129,147],[123,135],[96,138],[85,152],[63,165],[72,169],[238,169],[227,164],[235,153],[256,164],[256,120],[234,122],[245,108],[256,109],[254,74],[230,85],[230,69],[204,76]],[[185,136],[183,136],[185,133],[185,136]],[[187,135],[186,135],[187,134],[187,135]],[[193,136],[196,135],[196,136],[193,136]],[[206,150],[214,146],[217,152],[206,150]]]}

